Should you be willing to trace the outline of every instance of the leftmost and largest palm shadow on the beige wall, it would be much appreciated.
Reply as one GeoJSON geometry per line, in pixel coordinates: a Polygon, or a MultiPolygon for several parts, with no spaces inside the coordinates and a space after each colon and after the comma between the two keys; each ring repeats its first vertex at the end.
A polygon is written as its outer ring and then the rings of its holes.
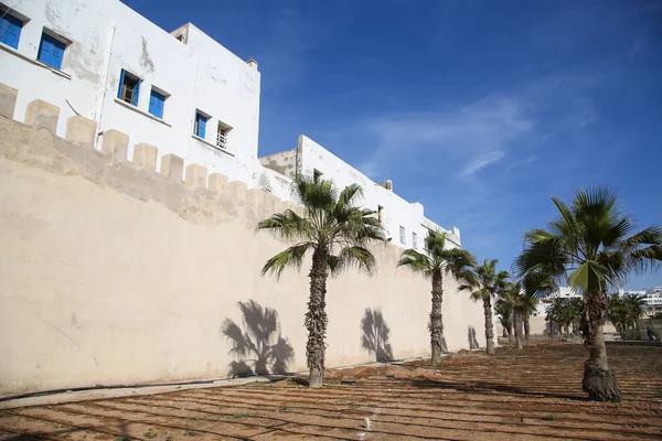
{"type": "Polygon", "coordinates": [[[229,344],[228,354],[235,358],[227,365],[233,377],[282,374],[295,357],[295,349],[280,334],[278,312],[263,308],[254,300],[238,302],[243,329],[231,319],[221,325],[221,334],[229,344]]]}

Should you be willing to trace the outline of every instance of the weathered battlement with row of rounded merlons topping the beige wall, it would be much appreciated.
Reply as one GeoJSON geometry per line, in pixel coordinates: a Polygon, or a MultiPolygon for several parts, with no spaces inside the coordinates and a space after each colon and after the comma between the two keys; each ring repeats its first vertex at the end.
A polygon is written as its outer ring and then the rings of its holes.
{"type": "MultiPolygon", "coordinates": [[[[18,90],[0,84],[0,115],[11,119],[18,90]]],[[[24,126],[43,129],[53,136],[53,147],[66,157],[52,158],[51,160],[29,159],[29,163],[39,164],[42,168],[51,168],[51,171],[75,173],[77,170],[86,178],[100,183],[108,183],[116,190],[129,193],[141,200],[154,200],[164,203],[175,209],[182,217],[194,222],[206,223],[202,217],[211,218],[214,209],[200,216],[199,209],[191,209],[192,198],[209,200],[217,202],[233,212],[244,209],[250,218],[264,218],[274,213],[287,208],[297,209],[297,206],[288,201],[265,192],[260,189],[248,189],[247,184],[238,181],[229,181],[221,173],[207,173],[207,168],[201,164],[184,164],[184,159],[177,154],[164,154],[161,157],[161,166],[157,170],[157,158],[159,149],[149,143],[138,142],[134,148],[131,159],[127,157],[129,147],[129,135],[118,130],[105,130],[102,138],[100,150],[94,149],[96,137],[95,121],[74,116],[66,121],[66,135],[60,138],[55,135],[58,123],[60,108],[46,101],[35,99],[28,105],[24,126]],[[66,163],[66,164],[65,164],[66,163]],[[193,216],[193,213],[197,215],[193,216]]],[[[22,125],[19,121],[15,123],[22,125]]],[[[3,153],[10,158],[49,155],[35,149],[22,149],[31,144],[25,142],[26,135],[21,137],[23,142],[15,147],[10,146],[11,140],[3,146],[3,153]],[[10,151],[17,149],[17,151],[10,151]],[[22,151],[21,151],[22,150],[22,151]]],[[[39,142],[43,143],[44,139],[39,142]]],[[[39,143],[38,142],[38,143],[39,143]]],[[[209,208],[209,207],[207,207],[209,208]]]]}

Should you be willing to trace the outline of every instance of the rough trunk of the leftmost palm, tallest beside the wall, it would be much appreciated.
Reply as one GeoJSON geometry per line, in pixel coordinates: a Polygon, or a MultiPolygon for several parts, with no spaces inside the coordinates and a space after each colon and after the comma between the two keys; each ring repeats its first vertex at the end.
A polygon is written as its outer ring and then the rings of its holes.
{"type": "Polygon", "coordinates": [[[322,387],[324,379],[324,336],[327,334],[325,295],[327,278],[329,277],[328,254],[317,248],[312,255],[312,268],[310,269],[310,298],[308,300],[308,312],[306,313],[306,329],[308,330],[308,343],[306,345],[306,357],[310,375],[308,384],[310,387],[322,387]]]}

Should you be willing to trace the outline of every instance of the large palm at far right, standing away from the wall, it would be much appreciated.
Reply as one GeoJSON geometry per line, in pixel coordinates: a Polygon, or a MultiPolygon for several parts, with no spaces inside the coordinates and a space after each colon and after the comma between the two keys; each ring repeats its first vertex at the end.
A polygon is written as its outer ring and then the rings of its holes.
{"type": "Polygon", "coordinates": [[[547,228],[524,235],[524,250],[515,263],[517,276],[567,280],[583,293],[583,325],[589,347],[583,389],[590,399],[618,400],[621,392],[609,369],[602,333],[607,287],[620,286],[631,270],[659,266],[662,228],[651,226],[633,233],[633,222],[618,208],[616,194],[604,187],[578,191],[569,205],[556,197],[552,201],[559,214],[547,228]]]}

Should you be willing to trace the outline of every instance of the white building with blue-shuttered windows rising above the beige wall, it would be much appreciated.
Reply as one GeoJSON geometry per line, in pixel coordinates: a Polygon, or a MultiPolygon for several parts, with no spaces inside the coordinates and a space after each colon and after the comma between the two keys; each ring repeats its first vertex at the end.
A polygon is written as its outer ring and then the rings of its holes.
{"type": "MultiPolygon", "coordinates": [[[[81,115],[104,131],[205,165],[231,181],[290,198],[297,173],[322,173],[339,187],[359,183],[366,207],[380,212],[393,244],[423,248],[438,225],[419,203],[377,184],[303,136],[293,150],[258,159],[260,74],[188,23],[167,32],[117,0],[29,0],[0,3],[0,83],[19,90],[14,119],[34,99],[60,107],[57,136],[81,115]],[[280,163],[280,165],[279,165],[280,163]]],[[[449,232],[460,246],[460,232],[449,232]]]]}

